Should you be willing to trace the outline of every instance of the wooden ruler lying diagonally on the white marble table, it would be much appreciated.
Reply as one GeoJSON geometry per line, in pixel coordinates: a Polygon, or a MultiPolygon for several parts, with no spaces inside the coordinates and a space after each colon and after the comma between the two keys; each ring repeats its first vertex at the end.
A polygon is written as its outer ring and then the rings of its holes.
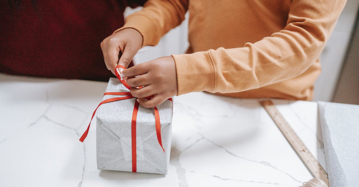
{"type": "Polygon", "coordinates": [[[304,165],[312,173],[313,177],[320,179],[329,186],[328,174],[320,165],[318,160],[313,156],[309,149],[304,145],[302,140],[295,131],[290,127],[288,122],[283,118],[279,113],[278,109],[275,107],[272,101],[265,100],[260,101],[261,105],[268,112],[270,117],[273,119],[274,123],[278,126],[279,130],[282,132],[284,137],[288,140],[289,144],[292,146],[294,151],[297,153],[298,157],[302,160],[304,165]]]}

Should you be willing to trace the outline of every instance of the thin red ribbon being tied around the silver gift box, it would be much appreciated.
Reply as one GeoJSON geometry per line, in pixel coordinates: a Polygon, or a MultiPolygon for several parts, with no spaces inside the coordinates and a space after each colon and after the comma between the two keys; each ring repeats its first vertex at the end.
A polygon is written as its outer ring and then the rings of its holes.
{"type": "MultiPolygon", "coordinates": [[[[127,84],[127,82],[123,79],[121,79],[120,74],[117,72],[117,68],[123,68],[126,69],[125,67],[118,65],[115,68],[115,72],[116,72],[116,77],[118,78],[118,80],[121,81],[121,83],[123,84],[123,86],[125,86],[127,89],[130,90],[130,86],[127,84]]],[[[91,121],[93,119],[93,116],[95,115],[96,110],[98,109],[98,107],[102,104],[108,103],[108,102],[113,102],[113,101],[120,101],[120,100],[125,100],[125,99],[132,99],[135,98],[134,96],[131,95],[130,92],[105,92],[104,95],[125,95],[125,97],[114,97],[111,99],[106,99],[103,100],[102,102],[100,102],[100,104],[96,107],[95,111],[92,114],[90,123],[86,129],[86,131],[84,132],[84,134],[81,136],[81,138],[79,139],[80,142],[84,142],[87,134],[89,133],[89,129],[90,129],[90,124],[91,121]]],[[[150,99],[147,98],[147,99],[150,99]]],[[[172,98],[169,98],[168,100],[172,101],[172,98]]],[[[138,108],[139,108],[139,102],[137,100],[135,100],[135,106],[134,106],[134,110],[132,112],[132,121],[131,121],[131,147],[132,147],[132,172],[136,172],[136,164],[137,164],[137,158],[136,158],[136,119],[137,119],[137,112],[138,112],[138,108]]],[[[156,126],[156,134],[157,134],[157,140],[159,145],[161,146],[163,152],[163,146],[162,146],[162,139],[161,139],[161,123],[160,123],[160,119],[159,119],[159,113],[158,113],[158,109],[157,107],[154,107],[154,114],[155,114],[155,126],[156,126]]]]}

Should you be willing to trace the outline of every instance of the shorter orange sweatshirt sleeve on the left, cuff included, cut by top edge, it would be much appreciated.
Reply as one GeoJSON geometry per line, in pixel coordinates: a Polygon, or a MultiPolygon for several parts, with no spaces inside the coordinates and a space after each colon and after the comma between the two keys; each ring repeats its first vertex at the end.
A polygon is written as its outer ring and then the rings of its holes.
{"type": "Polygon", "coordinates": [[[125,28],[139,31],[143,37],[142,47],[157,45],[160,38],[185,20],[188,0],[148,0],[143,9],[125,19],[125,28]]]}

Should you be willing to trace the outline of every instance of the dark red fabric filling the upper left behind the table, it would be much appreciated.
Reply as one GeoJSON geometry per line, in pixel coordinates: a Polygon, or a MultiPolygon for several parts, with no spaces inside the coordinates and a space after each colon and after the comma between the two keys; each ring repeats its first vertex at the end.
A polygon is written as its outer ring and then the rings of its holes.
{"type": "Polygon", "coordinates": [[[108,81],[100,43],[143,1],[1,1],[0,72],[108,81]]]}

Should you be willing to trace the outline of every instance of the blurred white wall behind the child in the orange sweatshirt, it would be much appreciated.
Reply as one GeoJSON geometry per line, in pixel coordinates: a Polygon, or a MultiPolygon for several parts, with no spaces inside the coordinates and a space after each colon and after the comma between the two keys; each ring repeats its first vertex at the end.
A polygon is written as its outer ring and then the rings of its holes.
{"type": "MultiPolygon", "coordinates": [[[[320,59],[322,62],[322,73],[318,77],[314,88],[314,101],[331,101],[335,91],[342,62],[345,57],[351,31],[353,29],[359,0],[348,0],[336,27],[324,48],[320,59]]],[[[127,8],[125,16],[138,11],[141,8],[127,8]]],[[[136,54],[135,63],[147,62],[152,59],[169,56],[171,54],[182,54],[188,47],[187,38],[188,13],[186,20],[164,35],[159,44],[154,47],[146,46],[136,54]]]]}

